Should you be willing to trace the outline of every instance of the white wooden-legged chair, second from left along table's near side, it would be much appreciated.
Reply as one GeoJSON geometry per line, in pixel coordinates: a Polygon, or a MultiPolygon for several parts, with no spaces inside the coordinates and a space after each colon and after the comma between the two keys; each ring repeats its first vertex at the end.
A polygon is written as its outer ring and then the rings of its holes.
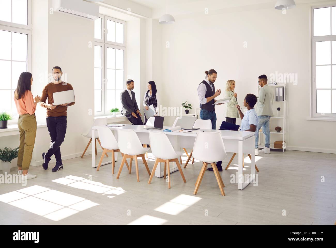
{"type": "Polygon", "coordinates": [[[129,165],[129,173],[132,171],[132,160],[135,161],[135,170],[136,170],[136,177],[137,181],[139,182],[139,168],[138,168],[138,159],[137,158],[142,158],[142,161],[146,167],[146,170],[149,175],[151,175],[151,172],[148,168],[146,159],[144,154],[149,150],[149,148],[143,148],[141,145],[141,142],[136,135],[136,132],[133,130],[127,130],[127,129],[121,129],[118,130],[118,145],[119,145],[119,150],[122,152],[123,155],[123,160],[121,161],[121,165],[118,171],[117,179],[119,179],[120,173],[123,169],[124,163],[126,159],[130,158],[131,162],[129,165]]]}

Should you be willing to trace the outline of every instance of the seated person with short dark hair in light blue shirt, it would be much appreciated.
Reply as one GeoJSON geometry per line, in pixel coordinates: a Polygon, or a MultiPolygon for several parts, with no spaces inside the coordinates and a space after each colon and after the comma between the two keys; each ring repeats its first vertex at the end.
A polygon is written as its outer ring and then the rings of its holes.
{"type": "Polygon", "coordinates": [[[250,131],[255,132],[257,128],[257,113],[255,112],[254,105],[257,102],[257,97],[253,94],[247,94],[244,99],[244,107],[247,108],[245,115],[241,111],[239,105],[236,105],[240,118],[242,119],[242,124],[240,131],[250,131]]]}

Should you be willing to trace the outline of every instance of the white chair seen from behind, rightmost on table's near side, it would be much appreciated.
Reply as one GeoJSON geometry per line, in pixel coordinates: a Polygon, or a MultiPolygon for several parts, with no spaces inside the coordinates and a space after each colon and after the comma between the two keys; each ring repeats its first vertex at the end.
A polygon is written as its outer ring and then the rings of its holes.
{"type": "Polygon", "coordinates": [[[194,195],[197,194],[197,191],[200,188],[207,165],[211,164],[220,192],[222,196],[225,196],[223,189],[225,185],[215,162],[222,161],[226,158],[224,142],[220,132],[198,132],[194,143],[193,154],[195,159],[203,161],[202,169],[196,181],[194,195]]]}

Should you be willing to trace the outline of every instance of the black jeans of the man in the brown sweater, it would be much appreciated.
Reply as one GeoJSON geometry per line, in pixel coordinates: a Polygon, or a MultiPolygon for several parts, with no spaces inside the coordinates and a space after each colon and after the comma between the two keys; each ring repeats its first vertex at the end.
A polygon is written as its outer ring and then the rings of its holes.
{"type": "Polygon", "coordinates": [[[47,117],[47,127],[51,138],[51,145],[46,154],[47,158],[55,155],[56,163],[62,163],[60,145],[64,141],[65,133],[67,131],[67,117],[47,117]]]}

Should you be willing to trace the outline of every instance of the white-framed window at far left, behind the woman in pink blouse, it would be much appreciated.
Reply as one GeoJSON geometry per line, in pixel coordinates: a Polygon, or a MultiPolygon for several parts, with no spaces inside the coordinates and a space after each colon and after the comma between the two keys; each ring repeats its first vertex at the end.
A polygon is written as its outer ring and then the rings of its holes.
{"type": "Polygon", "coordinates": [[[31,0],[0,1],[0,112],[14,119],[18,117],[13,100],[18,78],[31,71],[30,13],[31,0]]]}

